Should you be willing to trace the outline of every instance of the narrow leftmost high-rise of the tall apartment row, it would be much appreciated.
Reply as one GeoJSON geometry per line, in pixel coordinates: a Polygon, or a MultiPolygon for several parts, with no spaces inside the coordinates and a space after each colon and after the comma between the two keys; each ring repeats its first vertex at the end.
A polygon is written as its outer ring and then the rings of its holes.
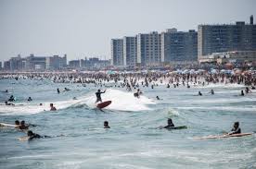
{"type": "Polygon", "coordinates": [[[111,65],[124,66],[122,39],[111,40],[111,65]]]}

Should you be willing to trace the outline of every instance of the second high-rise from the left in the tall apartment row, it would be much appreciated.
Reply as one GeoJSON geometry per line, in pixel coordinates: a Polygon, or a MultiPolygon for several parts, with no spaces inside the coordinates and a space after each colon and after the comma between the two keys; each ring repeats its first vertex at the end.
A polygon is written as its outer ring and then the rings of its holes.
{"type": "Polygon", "coordinates": [[[137,37],[123,38],[123,65],[136,66],[137,63],[137,37]]]}

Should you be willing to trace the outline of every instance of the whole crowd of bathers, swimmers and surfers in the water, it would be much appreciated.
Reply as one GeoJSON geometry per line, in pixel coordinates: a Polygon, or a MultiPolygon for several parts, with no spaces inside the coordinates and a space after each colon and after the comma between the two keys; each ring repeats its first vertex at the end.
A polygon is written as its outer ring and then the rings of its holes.
{"type": "MultiPolygon", "coordinates": [[[[256,74],[211,74],[207,72],[201,72],[200,74],[177,74],[177,73],[161,73],[161,72],[147,72],[147,73],[118,73],[118,74],[108,74],[101,72],[94,73],[9,73],[2,74],[0,78],[15,78],[16,80],[22,79],[50,79],[55,83],[73,83],[81,85],[86,88],[89,84],[94,85],[96,88],[123,88],[126,91],[134,92],[134,97],[140,98],[140,95],[143,93],[143,88],[151,88],[154,90],[155,87],[159,85],[166,85],[166,88],[180,88],[184,87],[190,89],[192,87],[204,87],[209,84],[240,84],[244,85],[244,90],[241,90],[237,95],[245,96],[250,94],[255,90],[256,85],[256,74]]],[[[197,88],[196,88],[197,89],[197,88]]],[[[68,88],[64,88],[63,91],[70,91],[68,88]]],[[[57,89],[57,93],[60,92],[57,89]]],[[[8,92],[8,90],[3,91],[8,92]]],[[[211,89],[209,91],[211,95],[214,95],[215,92],[211,89]]],[[[102,103],[101,94],[105,91],[98,90],[96,91],[96,103],[102,103]]],[[[198,91],[198,96],[202,96],[203,93],[198,91]]],[[[73,98],[76,100],[76,97],[73,98]]],[[[161,100],[159,96],[156,96],[156,100],[161,100]]],[[[16,97],[11,95],[5,105],[15,106],[14,102],[16,97]]],[[[27,102],[32,102],[32,97],[28,97],[27,102]]],[[[40,103],[39,105],[43,105],[40,103]]],[[[53,103],[50,103],[50,111],[57,111],[57,108],[53,103]]],[[[167,126],[160,128],[170,128],[174,127],[173,120],[170,118],[167,121],[167,126]]],[[[17,128],[21,130],[28,130],[27,135],[30,139],[35,138],[46,138],[29,130],[29,127],[32,127],[30,124],[25,124],[24,121],[15,122],[17,128]]],[[[110,128],[109,122],[104,122],[104,128],[110,128]]],[[[239,128],[239,123],[234,124],[234,128],[229,132],[229,135],[241,133],[239,128]]]]}

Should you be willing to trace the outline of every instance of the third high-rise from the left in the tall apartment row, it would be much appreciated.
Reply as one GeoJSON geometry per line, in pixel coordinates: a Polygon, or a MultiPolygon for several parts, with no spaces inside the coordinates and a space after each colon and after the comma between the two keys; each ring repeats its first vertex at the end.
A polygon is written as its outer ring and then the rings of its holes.
{"type": "Polygon", "coordinates": [[[138,34],[137,63],[141,66],[159,66],[161,62],[160,34],[157,31],[138,34]]]}

